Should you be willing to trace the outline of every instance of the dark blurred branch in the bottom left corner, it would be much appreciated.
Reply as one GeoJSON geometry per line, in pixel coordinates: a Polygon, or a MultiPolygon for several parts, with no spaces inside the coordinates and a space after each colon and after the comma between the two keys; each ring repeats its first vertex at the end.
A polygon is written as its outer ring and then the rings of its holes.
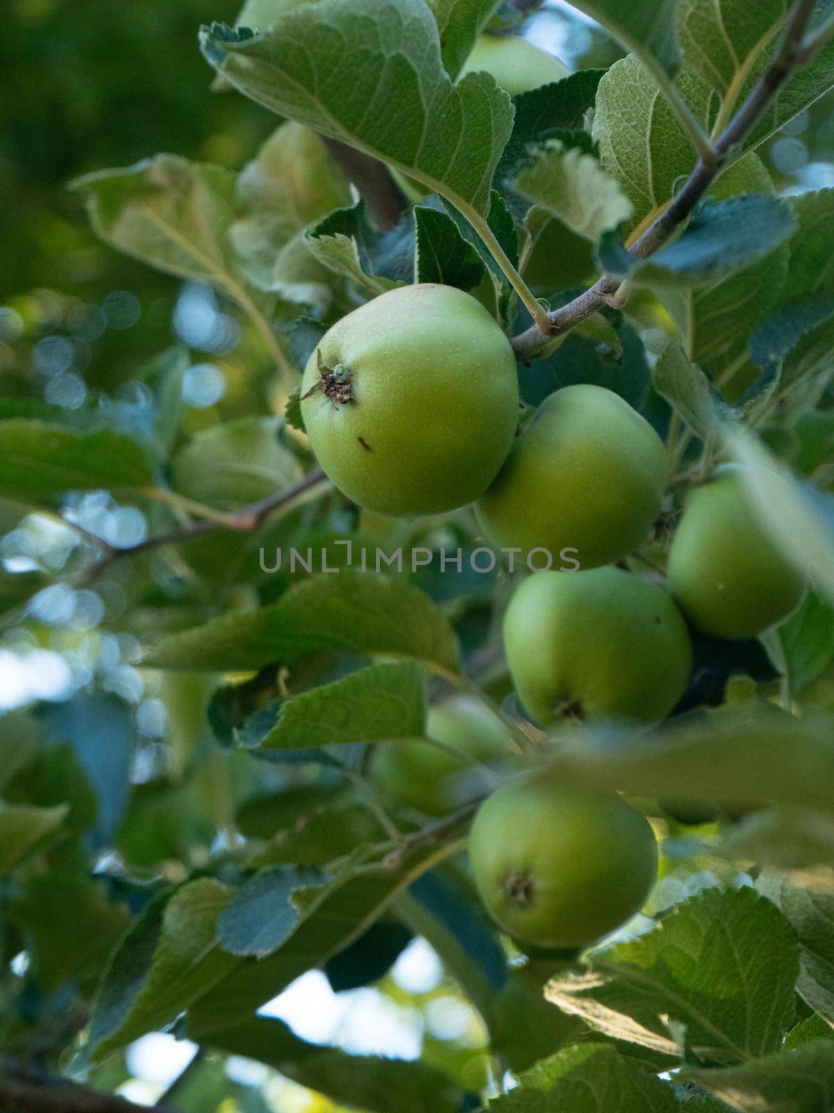
{"type": "MultiPolygon", "coordinates": [[[[3,1113],[148,1113],[147,1105],[99,1093],[8,1056],[0,1062],[0,1109],[3,1113]]],[[[177,1113],[171,1105],[156,1110],[177,1113]]]]}

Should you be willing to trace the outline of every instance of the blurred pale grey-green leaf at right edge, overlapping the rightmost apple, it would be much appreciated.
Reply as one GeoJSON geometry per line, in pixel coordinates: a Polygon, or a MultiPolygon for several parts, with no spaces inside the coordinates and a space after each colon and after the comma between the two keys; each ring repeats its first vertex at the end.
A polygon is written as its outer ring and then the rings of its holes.
{"type": "Polygon", "coordinates": [[[751,433],[725,431],[733,457],[762,524],[785,556],[834,602],[834,500],[796,482],[751,433]],[[827,510],[827,518],[826,518],[827,510]]]}

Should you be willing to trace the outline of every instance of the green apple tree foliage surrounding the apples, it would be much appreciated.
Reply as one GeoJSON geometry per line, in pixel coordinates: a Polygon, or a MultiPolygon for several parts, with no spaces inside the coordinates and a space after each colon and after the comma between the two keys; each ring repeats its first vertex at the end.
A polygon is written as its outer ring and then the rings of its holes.
{"type": "MultiPolygon", "coordinates": [[[[145,353],[140,418],[95,392],[75,407],[0,396],[3,532],[37,520],[70,539],[58,568],[34,550],[6,561],[4,630],[31,650],[44,598],[95,594],[86,637],[135,648],[162,716],[89,676],[0,717],[10,1061],[110,1094],[126,1048],[172,1032],[200,1048],[166,1099],[183,1113],[270,1107],[226,1077],[230,1055],[371,1113],[834,1110],[834,188],[786,194],[762,157],[834,87],[834,6],[582,0],[618,60],[514,98],[485,72],[458,82],[485,27],[518,31],[518,7],[249,0],[234,27],[199,31],[211,69],[182,96],[274,114],[259,151],[236,169],[157,154],[72,183],[109,248],[214,292],[250,374],[201,426],[179,345],[145,353]],[[668,234],[631,250],[705,165],[668,234]],[[380,188],[405,190],[393,219],[380,188]],[[537,730],[499,634],[524,569],[475,570],[470,508],[387,519],[316,471],[297,404],[310,353],[411,283],[471,293],[509,337],[558,318],[516,347],[523,424],[590,383],[661,434],[672,480],[634,574],[661,582],[687,490],[744,465],[811,591],[761,638],[695,636],[665,723],[537,730]],[[97,492],[140,510],[147,536],[82,521],[97,492]],[[441,567],[449,550],[459,568],[441,567]],[[455,690],[516,738],[500,777],[544,761],[566,790],[624,792],[651,818],[661,874],[642,917],[582,953],[519,949],[475,895],[473,807],[428,817],[378,790],[375,750],[424,737],[455,690]],[[405,1062],[259,1014],[312,969],[401,998],[385,979],[414,936],[477,1017],[474,1042],[427,1035],[405,1062]]],[[[51,644],[72,657],[71,637],[51,644]]],[[[0,1106],[33,1107],[14,1087],[41,1083],[20,1077],[0,1080],[0,1106]]]]}

